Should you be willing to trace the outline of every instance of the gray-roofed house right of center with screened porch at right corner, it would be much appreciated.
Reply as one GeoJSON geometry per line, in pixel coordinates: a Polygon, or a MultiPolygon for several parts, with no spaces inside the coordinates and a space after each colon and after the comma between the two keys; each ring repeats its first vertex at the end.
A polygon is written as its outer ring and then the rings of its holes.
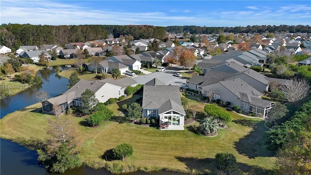
{"type": "Polygon", "coordinates": [[[210,89],[215,89],[213,100],[230,102],[230,106],[238,105],[245,112],[256,113],[259,117],[267,117],[267,112],[274,103],[260,98],[263,94],[250,86],[241,78],[221,80],[203,76],[194,76],[188,82],[190,89],[199,90],[204,96],[208,96],[210,89]],[[201,81],[201,82],[200,82],[201,81]],[[198,83],[200,82],[200,83],[198,83]]]}

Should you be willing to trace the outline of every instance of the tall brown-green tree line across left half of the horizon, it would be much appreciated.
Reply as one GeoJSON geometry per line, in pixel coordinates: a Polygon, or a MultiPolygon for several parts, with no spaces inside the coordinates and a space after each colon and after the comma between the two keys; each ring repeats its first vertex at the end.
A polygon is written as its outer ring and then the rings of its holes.
{"type": "Polygon", "coordinates": [[[0,43],[12,49],[19,46],[43,44],[59,44],[65,46],[69,42],[86,42],[105,39],[109,34],[114,37],[131,35],[133,39],[155,37],[165,39],[164,27],[150,25],[0,25],[0,43]]]}

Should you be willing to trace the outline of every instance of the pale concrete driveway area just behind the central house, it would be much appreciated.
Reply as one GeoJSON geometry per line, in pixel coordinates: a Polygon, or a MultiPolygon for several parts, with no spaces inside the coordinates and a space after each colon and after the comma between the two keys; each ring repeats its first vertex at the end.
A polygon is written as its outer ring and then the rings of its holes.
{"type": "Polygon", "coordinates": [[[133,79],[138,82],[138,84],[144,85],[145,83],[149,82],[150,80],[157,78],[160,81],[164,82],[166,85],[182,85],[186,83],[187,79],[185,77],[175,77],[173,74],[178,69],[174,68],[166,68],[165,71],[161,72],[154,72],[147,75],[140,75],[134,77],[133,79]]]}

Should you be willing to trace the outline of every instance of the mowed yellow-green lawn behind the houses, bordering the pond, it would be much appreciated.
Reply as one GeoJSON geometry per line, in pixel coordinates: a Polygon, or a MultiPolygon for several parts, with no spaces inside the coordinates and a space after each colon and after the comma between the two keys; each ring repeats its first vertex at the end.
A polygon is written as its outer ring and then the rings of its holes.
{"type": "MultiPolygon", "coordinates": [[[[127,100],[131,103],[130,99],[127,100]]],[[[112,105],[108,105],[110,106],[112,105]]],[[[205,104],[200,104],[201,111],[204,106],[205,104]]],[[[35,108],[40,108],[40,104],[29,106],[29,109],[16,111],[1,119],[1,138],[16,142],[23,138],[22,144],[26,146],[31,140],[46,139],[46,115],[31,112],[35,108]]],[[[229,113],[233,120],[228,123],[229,128],[219,129],[219,134],[212,138],[197,133],[197,122],[185,126],[184,131],[160,131],[153,127],[114,121],[90,128],[79,124],[86,119],[70,118],[83,140],[81,157],[88,165],[94,167],[100,168],[106,163],[102,158],[105,151],[127,142],[133,145],[134,153],[121,163],[136,167],[211,173],[216,168],[215,155],[228,152],[237,157],[238,167],[244,174],[267,174],[267,170],[275,166],[275,158],[263,148],[263,135],[267,130],[264,121],[244,118],[234,112],[229,113]]]]}

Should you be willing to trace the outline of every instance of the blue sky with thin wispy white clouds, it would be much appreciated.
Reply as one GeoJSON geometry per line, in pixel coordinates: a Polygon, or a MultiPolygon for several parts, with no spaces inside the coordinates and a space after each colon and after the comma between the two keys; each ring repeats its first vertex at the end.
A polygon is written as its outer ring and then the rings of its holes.
{"type": "Polygon", "coordinates": [[[311,0],[0,0],[0,23],[311,25],[311,0]]]}

